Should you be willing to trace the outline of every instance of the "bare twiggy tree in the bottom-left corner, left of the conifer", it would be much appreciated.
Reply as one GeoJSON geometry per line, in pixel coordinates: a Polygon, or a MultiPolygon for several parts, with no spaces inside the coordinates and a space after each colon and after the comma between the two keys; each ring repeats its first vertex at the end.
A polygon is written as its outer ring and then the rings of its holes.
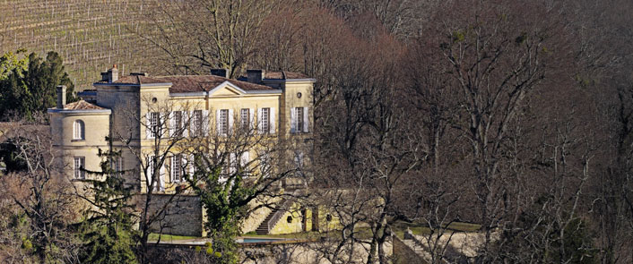
{"type": "MultiPolygon", "coordinates": [[[[22,239],[22,256],[28,258],[32,253],[37,257],[34,261],[77,262],[79,246],[72,225],[80,217],[81,208],[71,183],[61,177],[65,165],[53,149],[48,127],[19,121],[8,123],[2,133],[16,147],[16,158],[26,164],[25,171],[3,176],[3,190],[8,191],[2,194],[3,200],[11,199],[16,206],[11,217],[24,217],[27,225],[23,234],[13,233],[20,230],[20,220],[13,222],[13,227],[4,226],[9,228],[3,232],[7,235],[4,239],[22,239]]],[[[16,259],[20,255],[6,257],[20,261],[16,259]]]]}

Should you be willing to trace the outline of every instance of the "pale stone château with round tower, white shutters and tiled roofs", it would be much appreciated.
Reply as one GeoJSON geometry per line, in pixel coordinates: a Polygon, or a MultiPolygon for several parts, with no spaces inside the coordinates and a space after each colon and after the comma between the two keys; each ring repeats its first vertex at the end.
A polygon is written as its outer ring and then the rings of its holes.
{"type": "MultiPolygon", "coordinates": [[[[170,137],[202,139],[227,135],[240,127],[253,128],[269,141],[309,142],[312,138],[314,79],[263,70],[248,70],[238,80],[227,78],[225,70],[211,73],[151,76],[140,72],[119,77],[114,65],[101,73],[94,89],[78,93],[82,100],[69,104],[65,87],[57,87],[56,107],[48,109],[48,115],[65,176],[81,184],[93,177],[87,171],[100,171],[100,151],[119,149],[120,157],[111,166],[125,172],[126,183],[133,184],[134,190],[147,192],[149,184],[143,175],[154,174],[143,169],[153,168],[148,166],[152,158],[140,154],[152,157],[158,138],[166,138],[159,145],[169,144],[170,137]]],[[[289,158],[303,162],[302,151],[289,158]]],[[[256,155],[242,153],[232,158],[247,162],[256,155]]],[[[173,192],[184,182],[182,176],[194,169],[187,155],[171,151],[169,156],[160,167],[159,179],[151,180],[153,192],[173,192]]]]}

